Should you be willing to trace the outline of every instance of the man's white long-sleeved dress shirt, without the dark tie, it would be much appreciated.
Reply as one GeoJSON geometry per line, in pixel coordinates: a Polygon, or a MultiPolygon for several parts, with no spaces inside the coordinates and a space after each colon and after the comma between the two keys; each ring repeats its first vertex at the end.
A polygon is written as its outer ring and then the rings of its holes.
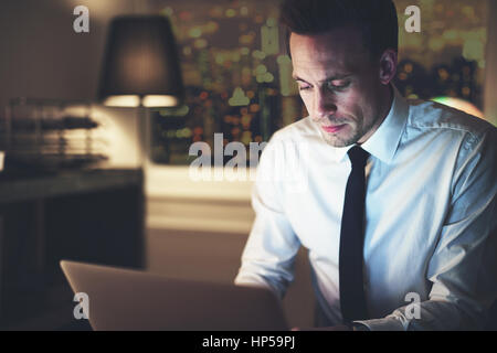
{"type": "MultiPolygon", "coordinates": [[[[479,329],[497,297],[497,129],[394,89],[389,115],[361,146],[366,167],[364,290],[370,330],[479,329]],[[421,303],[416,307],[415,300],[421,303]]],[[[235,278],[284,296],[300,245],[317,301],[341,322],[340,223],[351,164],[307,117],[264,149],[256,217],[235,278]]]]}

